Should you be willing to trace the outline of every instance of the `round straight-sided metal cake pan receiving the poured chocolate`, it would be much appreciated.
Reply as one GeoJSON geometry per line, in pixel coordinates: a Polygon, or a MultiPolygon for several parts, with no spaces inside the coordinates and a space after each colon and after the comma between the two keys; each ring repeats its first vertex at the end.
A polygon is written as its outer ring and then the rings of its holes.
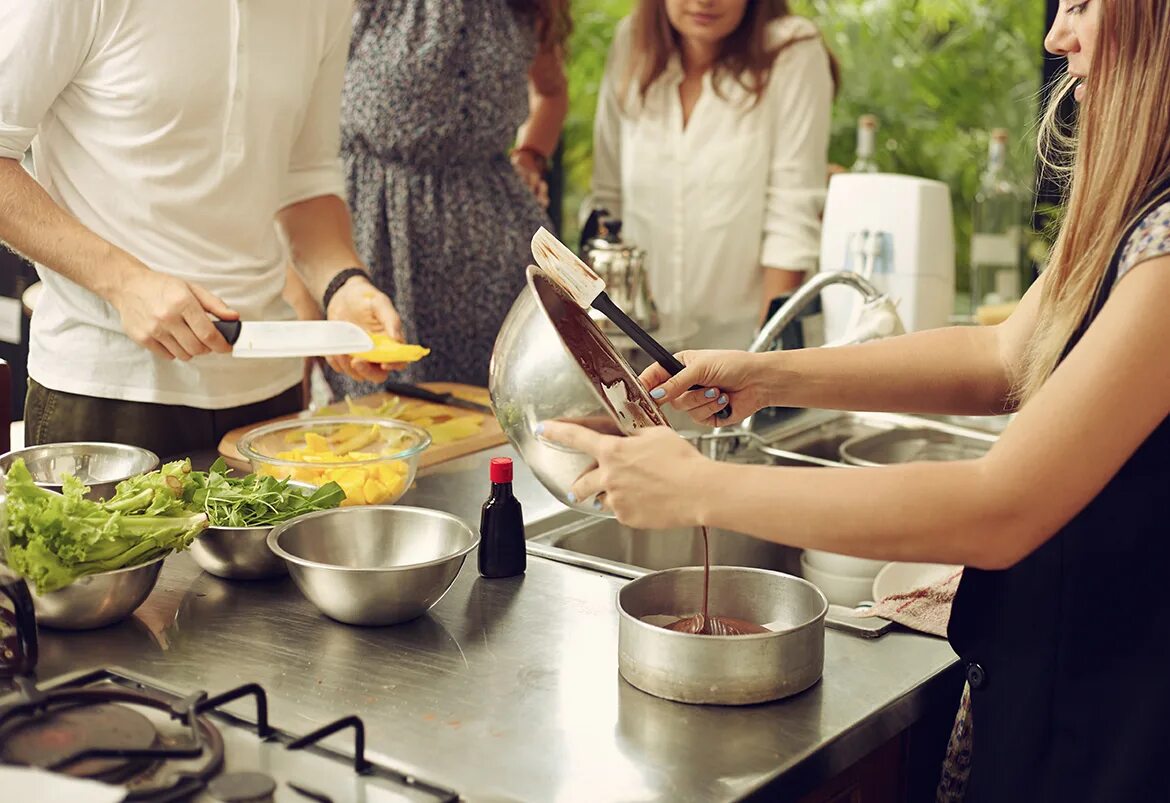
{"type": "Polygon", "coordinates": [[[700,567],[656,571],[622,588],[621,677],[667,700],[725,706],[779,700],[820,679],[828,602],[815,585],[766,569],[711,567],[711,616],[762,624],[772,632],[693,636],[659,626],[669,617],[696,613],[702,597],[700,567]]]}

